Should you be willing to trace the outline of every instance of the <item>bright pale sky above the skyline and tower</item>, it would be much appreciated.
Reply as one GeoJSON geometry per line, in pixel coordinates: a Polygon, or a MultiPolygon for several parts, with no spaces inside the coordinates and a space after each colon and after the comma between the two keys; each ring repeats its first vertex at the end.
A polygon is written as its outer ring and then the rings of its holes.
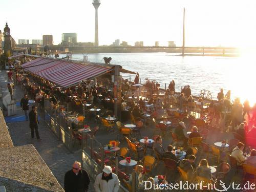
{"type": "MultiPolygon", "coordinates": [[[[52,34],[57,45],[62,33],[75,32],[78,42],[94,42],[92,0],[0,0],[0,7],[0,29],[7,21],[16,41],[52,34]]],[[[99,45],[120,39],[132,46],[167,46],[168,40],[182,46],[185,8],[185,46],[256,47],[255,7],[254,0],[101,0],[99,45]]]]}

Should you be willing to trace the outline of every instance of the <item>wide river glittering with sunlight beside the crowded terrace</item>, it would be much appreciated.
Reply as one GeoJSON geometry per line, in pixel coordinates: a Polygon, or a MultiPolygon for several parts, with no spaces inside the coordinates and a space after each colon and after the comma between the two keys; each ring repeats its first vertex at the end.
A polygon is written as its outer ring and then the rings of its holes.
{"type": "MultiPolygon", "coordinates": [[[[60,55],[60,58],[66,55],[60,55]]],[[[73,59],[82,59],[82,54],[73,54],[73,59]]],[[[145,78],[158,81],[161,88],[175,80],[176,90],[190,86],[191,93],[199,96],[201,89],[209,90],[213,98],[221,88],[231,90],[231,99],[241,98],[256,102],[255,61],[248,57],[177,56],[170,53],[94,53],[88,54],[91,62],[104,62],[103,57],[112,57],[111,64],[139,72],[141,83],[145,78]]],[[[134,80],[134,75],[122,74],[134,80]]]]}

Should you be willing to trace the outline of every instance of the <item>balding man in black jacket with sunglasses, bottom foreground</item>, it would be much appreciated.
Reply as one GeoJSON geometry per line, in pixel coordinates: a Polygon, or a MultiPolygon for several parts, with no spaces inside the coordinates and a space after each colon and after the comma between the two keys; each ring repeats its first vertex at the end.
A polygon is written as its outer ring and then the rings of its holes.
{"type": "Polygon", "coordinates": [[[90,178],[86,170],[81,169],[81,163],[75,161],[72,169],[65,174],[64,188],[66,192],[88,191],[90,178]]]}

